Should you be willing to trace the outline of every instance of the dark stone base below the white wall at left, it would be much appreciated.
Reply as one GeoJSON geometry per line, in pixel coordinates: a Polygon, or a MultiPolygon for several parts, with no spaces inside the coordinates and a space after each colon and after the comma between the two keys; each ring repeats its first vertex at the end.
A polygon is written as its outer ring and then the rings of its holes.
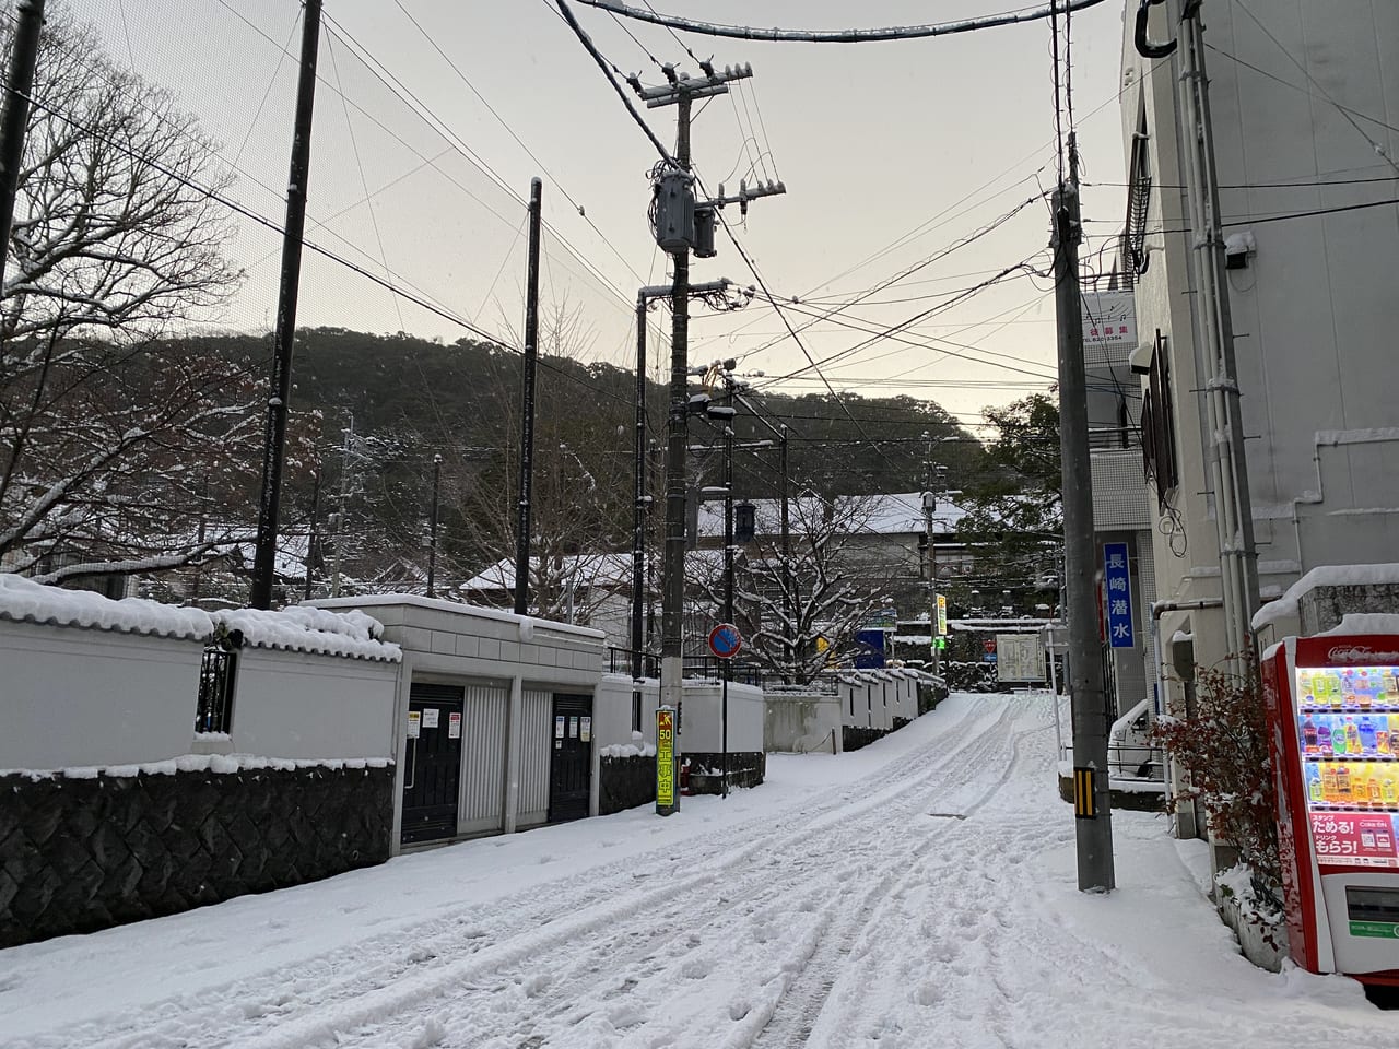
{"type": "Polygon", "coordinates": [[[393,766],[0,776],[0,947],[389,859],[393,766]]]}

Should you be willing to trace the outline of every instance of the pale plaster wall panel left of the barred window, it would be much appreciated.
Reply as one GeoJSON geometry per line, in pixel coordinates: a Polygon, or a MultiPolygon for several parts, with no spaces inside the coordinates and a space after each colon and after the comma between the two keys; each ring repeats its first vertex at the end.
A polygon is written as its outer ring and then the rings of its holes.
{"type": "Polygon", "coordinates": [[[199,641],[0,621],[0,769],[187,754],[199,641]]]}

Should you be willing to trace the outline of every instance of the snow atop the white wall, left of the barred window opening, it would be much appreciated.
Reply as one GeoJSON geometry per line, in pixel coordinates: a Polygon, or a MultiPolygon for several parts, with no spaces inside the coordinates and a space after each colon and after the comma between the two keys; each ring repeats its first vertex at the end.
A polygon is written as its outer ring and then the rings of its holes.
{"type": "Polygon", "coordinates": [[[187,641],[201,641],[214,632],[214,621],[200,608],[178,608],[144,597],[112,600],[91,590],[45,586],[13,572],[0,573],[0,620],[187,641]]]}

